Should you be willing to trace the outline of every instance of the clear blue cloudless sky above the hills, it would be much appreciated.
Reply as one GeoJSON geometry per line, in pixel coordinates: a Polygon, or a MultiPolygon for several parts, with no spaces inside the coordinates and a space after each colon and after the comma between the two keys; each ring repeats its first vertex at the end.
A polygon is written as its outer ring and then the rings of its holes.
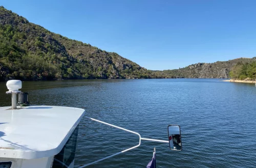
{"type": "Polygon", "coordinates": [[[256,56],[256,0],[2,0],[0,5],[151,70],[256,56]]]}

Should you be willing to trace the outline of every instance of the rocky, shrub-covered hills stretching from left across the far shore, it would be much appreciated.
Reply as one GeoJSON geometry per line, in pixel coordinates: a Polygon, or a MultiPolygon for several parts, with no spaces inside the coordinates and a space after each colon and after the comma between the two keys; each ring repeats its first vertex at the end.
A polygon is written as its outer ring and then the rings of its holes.
{"type": "Polygon", "coordinates": [[[227,78],[235,59],[152,71],[115,52],[52,33],[0,7],[0,81],[8,79],[227,78]]]}

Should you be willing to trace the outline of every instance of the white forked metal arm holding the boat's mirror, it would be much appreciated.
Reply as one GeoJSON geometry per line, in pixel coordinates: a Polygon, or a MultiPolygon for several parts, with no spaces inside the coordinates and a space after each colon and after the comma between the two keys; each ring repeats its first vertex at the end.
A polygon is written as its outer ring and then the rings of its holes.
{"type": "MultiPolygon", "coordinates": [[[[84,116],[84,117],[86,117],[86,116],[84,116]]],[[[134,131],[131,131],[131,130],[128,130],[128,129],[125,129],[125,128],[122,128],[122,127],[118,127],[118,126],[115,126],[115,125],[112,125],[112,124],[109,124],[109,123],[105,123],[105,122],[103,122],[103,121],[99,121],[99,120],[96,120],[96,119],[93,119],[93,118],[90,118],[90,117],[86,117],[86,118],[91,119],[91,120],[93,120],[93,121],[97,121],[97,122],[102,123],[102,124],[105,124],[105,125],[109,125],[109,126],[112,126],[112,127],[115,127],[115,128],[118,128],[118,129],[121,129],[121,130],[124,130],[124,131],[127,131],[127,132],[134,133],[134,134],[136,134],[136,135],[139,136],[139,144],[136,145],[136,146],[134,146],[134,147],[132,147],[132,148],[125,149],[125,150],[123,150],[123,151],[121,151],[121,152],[118,152],[118,153],[115,153],[115,154],[113,154],[113,155],[110,155],[110,156],[108,156],[108,157],[104,157],[104,158],[102,158],[102,159],[96,160],[96,161],[91,162],[91,163],[88,163],[88,164],[84,164],[84,165],[82,165],[82,166],[80,166],[80,167],[78,167],[78,168],[82,168],[82,167],[89,166],[89,165],[91,165],[91,164],[97,163],[97,162],[99,162],[99,161],[108,159],[108,158],[110,158],[110,157],[119,155],[119,154],[124,153],[124,152],[126,152],[126,151],[130,151],[130,150],[132,150],[132,149],[134,149],[134,148],[137,148],[137,147],[140,146],[141,140],[155,141],[155,142],[161,142],[161,143],[169,143],[168,141],[163,141],[163,140],[158,140],[158,139],[142,138],[138,132],[134,132],[134,131]]]]}

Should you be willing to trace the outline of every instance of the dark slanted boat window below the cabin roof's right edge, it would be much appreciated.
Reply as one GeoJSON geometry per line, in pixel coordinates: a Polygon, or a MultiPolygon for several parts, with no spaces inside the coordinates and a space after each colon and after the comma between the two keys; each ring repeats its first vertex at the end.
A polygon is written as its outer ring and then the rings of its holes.
{"type": "Polygon", "coordinates": [[[53,168],[67,168],[75,159],[78,128],[79,125],[77,125],[62,150],[54,156],[53,168]]]}

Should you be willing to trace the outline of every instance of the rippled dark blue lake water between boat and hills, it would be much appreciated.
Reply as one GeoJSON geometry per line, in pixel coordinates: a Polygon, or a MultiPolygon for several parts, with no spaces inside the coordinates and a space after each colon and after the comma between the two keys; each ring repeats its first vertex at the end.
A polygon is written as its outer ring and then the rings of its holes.
{"type": "MultiPolygon", "coordinates": [[[[0,82],[0,105],[11,105],[0,82]]],[[[73,106],[86,116],[168,139],[167,125],[179,124],[183,150],[145,142],[89,167],[145,167],[156,147],[157,167],[255,167],[256,87],[219,79],[26,81],[33,104],[73,106]]],[[[63,121],[65,122],[65,121],[63,121]]],[[[138,144],[138,136],[83,118],[75,166],[138,144]]]]}

